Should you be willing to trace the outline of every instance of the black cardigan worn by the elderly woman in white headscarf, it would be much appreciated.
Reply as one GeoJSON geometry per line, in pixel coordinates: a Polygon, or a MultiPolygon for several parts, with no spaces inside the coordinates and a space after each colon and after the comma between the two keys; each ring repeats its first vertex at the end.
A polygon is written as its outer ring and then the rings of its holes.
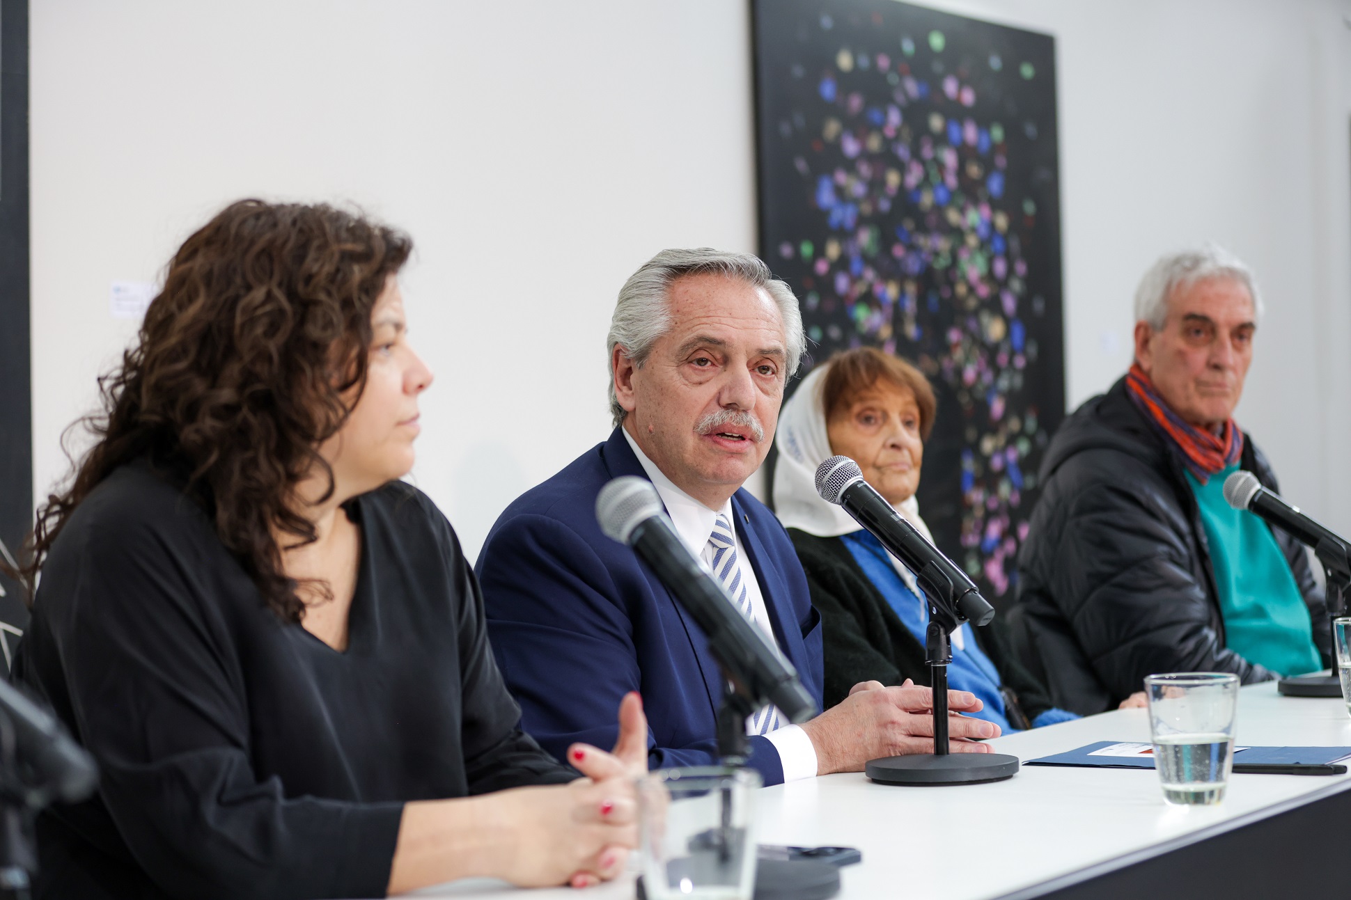
{"type": "MultiPolygon", "coordinates": [[[[789,528],[793,549],[807,572],[812,605],[821,614],[825,641],[825,708],[848,696],[859,681],[929,686],[924,645],[905,627],[882,592],[869,580],[840,538],[817,538],[789,528]]],[[[1002,623],[970,628],[981,650],[1000,673],[1000,691],[1009,724],[1031,727],[1031,720],[1051,708],[1046,688],[1013,655],[1002,623]]]]}

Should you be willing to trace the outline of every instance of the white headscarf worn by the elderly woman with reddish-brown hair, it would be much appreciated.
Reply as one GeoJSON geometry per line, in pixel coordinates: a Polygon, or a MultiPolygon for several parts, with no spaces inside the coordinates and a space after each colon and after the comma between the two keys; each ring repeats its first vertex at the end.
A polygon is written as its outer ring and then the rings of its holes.
{"type": "MultiPolygon", "coordinates": [[[[844,512],[843,507],[821,500],[816,492],[816,468],[830,459],[831,439],[825,430],[825,404],[821,389],[825,385],[825,372],[830,364],[816,366],[797,385],[797,392],[784,404],[778,414],[778,428],[774,445],[778,447],[778,462],[774,466],[774,512],[785,528],[801,528],[817,538],[838,538],[852,534],[859,524],[844,512]]],[[[896,511],[934,543],[934,535],[920,518],[920,504],[911,495],[896,511]]],[[[888,554],[888,559],[901,576],[901,581],[916,597],[923,597],[915,574],[901,565],[901,561],[888,554]]],[[[952,634],[952,643],[962,649],[965,627],[952,634]]]]}

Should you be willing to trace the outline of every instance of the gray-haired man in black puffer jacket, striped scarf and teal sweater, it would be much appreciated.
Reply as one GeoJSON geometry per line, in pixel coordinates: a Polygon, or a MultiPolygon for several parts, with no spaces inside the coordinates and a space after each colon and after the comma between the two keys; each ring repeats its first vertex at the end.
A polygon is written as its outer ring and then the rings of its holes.
{"type": "Polygon", "coordinates": [[[1327,665],[1304,547],[1223,496],[1240,468],[1277,491],[1232,418],[1260,315],[1227,251],[1163,257],[1135,296],[1131,370],[1051,441],[1011,619],[1056,705],[1115,708],[1159,672],[1250,684],[1327,665]]]}

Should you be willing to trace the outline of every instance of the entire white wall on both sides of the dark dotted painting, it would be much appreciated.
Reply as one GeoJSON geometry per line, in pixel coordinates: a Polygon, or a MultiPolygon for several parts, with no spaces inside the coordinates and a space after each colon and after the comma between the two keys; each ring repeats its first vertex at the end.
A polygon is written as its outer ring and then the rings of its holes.
{"type": "MultiPolygon", "coordinates": [[[[1351,0],[942,0],[1058,38],[1069,400],[1129,361],[1129,297],[1217,239],[1267,295],[1239,409],[1285,492],[1351,532],[1351,0]],[[1115,335],[1115,336],[1113,336],[1115,335]]],[[[412,232],[438,374],[416,481],[473,555],[608,432],[616,291],[665,246],[755,249],[740,0],[43,0],[31,9],[34,454],[151,281],[240,196],[351,199],[412,232]]]]}

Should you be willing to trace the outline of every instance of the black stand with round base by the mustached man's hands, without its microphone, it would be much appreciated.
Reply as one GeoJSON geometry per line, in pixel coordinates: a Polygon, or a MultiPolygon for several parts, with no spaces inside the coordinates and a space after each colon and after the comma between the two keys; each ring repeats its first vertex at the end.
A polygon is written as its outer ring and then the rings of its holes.
{"type": "MultiPolygon", "coordinates": [[[[1012,778],[1019,758],[1004,753],[951,753],[947,731],[947,666],[952,662],[951,634],[962,626],[952,582],[929,564],[917,573],[928,599],[929,623],[924,632],[925,661],[934,688],[934,753],[871,759],[863,772],[880,784],[908,786],[985,784],[1012,778]]],[[[988,608],[988,607],[986,607],[988,608]]]]}

